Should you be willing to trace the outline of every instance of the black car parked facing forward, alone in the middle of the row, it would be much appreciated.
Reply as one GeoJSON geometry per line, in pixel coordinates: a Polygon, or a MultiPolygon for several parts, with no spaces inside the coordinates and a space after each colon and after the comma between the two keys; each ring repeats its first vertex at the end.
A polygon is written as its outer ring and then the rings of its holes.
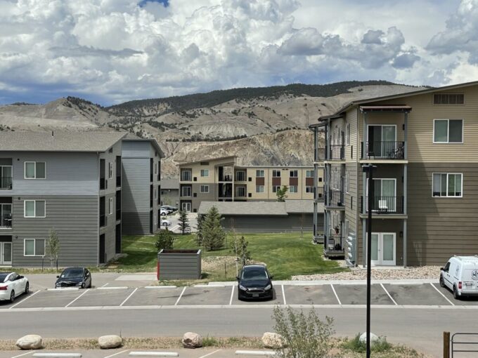
{"type": "Polygon", "coordinates": [[[273,278],[264,265],[245,265],[238,277],[238,299],[273,298],[273,278]]]}

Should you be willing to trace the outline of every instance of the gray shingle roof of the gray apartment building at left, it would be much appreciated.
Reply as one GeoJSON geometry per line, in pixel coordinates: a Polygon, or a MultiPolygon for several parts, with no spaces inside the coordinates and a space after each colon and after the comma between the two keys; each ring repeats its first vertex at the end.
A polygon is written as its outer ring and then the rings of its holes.
{"type": "Polygon", "coordinates": [[[0,132],[0,150],[12,152],[106,152],[125,132],[0,132]]]}

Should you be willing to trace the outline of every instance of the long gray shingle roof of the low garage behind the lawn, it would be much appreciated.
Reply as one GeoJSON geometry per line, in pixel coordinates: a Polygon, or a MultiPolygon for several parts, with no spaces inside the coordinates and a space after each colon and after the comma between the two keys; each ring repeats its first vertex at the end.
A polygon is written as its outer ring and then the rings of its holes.
{"type": "MultiPolygon", "coordinates": [[[[198,213],[205,214],[212,206],[216,206],[223,216],[288,216],[289,213],[314,213],[313,200],[287,200],[285,203],[278,201],[202,201],[198,213]]],[[[319,207],[318,211],[323,211],[323,208],[319,207]]]]}

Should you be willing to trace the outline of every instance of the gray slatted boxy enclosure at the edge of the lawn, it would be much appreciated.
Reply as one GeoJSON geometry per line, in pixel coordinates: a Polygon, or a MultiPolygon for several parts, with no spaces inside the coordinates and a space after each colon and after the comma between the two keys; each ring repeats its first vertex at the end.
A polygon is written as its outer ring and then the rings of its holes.
{"type": "Polygon", "coordinates": [[[164,250],[157,253],[157,279],[200,279],[201,250],[164,250]]]}

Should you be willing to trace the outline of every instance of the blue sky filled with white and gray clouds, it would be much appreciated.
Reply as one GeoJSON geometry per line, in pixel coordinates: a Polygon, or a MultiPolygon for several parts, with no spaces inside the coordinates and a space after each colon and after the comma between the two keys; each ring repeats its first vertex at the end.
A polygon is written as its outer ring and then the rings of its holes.
{"type": "Polygon", "coordinates": [[[478,80],[478,0],[0,0],[0,104],[478,80]]]}

